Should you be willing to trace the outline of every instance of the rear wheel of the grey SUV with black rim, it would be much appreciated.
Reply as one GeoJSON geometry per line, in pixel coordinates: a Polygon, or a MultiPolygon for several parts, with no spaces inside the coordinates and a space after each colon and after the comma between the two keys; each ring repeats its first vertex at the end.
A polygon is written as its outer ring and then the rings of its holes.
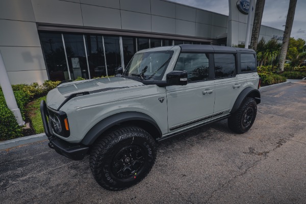
{"type": "Polygon", "coordinates": [[[247,97],[240,108],[227,119],[228,127],[235,133],[245,133],[254,123],[256,114],[257,104],[255,99],[247,97]]]}

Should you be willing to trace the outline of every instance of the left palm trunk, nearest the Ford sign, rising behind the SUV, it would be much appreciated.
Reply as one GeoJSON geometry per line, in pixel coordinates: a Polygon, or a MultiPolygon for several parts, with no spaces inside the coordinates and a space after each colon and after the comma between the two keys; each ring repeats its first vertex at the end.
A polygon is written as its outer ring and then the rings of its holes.
{"type": "Polygon", "coordinates": [[[251,37],[251,49],[257,49],[257,43],[260,32],[260,25],[263,17],[264,7],[266,0],[257,0],[255,14],[254,14],[254,22],[252,29],[252,37],[251,37]]]}

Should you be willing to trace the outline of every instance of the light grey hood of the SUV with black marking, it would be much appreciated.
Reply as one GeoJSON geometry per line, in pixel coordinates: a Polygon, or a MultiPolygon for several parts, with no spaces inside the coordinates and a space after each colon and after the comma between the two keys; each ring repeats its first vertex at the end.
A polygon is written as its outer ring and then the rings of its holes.
{"type": "Polygon", "coordinates": [[[59,109],[71,95],[79,96],[88,93],[111,91],[135,86],[144,86],[143,83],[122,77],[112,77],[94,80],[83,80],[68,82],[59,85],[47,94],[47,106],[52,109],[59,109]]]}

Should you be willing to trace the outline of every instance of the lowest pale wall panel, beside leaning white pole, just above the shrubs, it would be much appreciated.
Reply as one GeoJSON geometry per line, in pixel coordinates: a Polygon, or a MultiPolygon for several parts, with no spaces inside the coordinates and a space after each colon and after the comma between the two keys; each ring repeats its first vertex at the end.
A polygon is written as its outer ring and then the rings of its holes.
{"type": "Polygon", "coordinates": [[[32,71],[8,71],[11,84],[32,84],[37,82],[42,84],[48,80],[46,70],[32,70],[32,71]]]}

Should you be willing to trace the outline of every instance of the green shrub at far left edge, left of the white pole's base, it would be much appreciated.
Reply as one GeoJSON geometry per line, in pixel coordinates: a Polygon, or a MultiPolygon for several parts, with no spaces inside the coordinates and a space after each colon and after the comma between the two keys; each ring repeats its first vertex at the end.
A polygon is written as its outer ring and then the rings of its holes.
{"type": "Polygon", "coordinates": [[[0,141],[20,136],[21,127],[13,112],[7,107],[3,92],[0,90],[0,141]]]}

